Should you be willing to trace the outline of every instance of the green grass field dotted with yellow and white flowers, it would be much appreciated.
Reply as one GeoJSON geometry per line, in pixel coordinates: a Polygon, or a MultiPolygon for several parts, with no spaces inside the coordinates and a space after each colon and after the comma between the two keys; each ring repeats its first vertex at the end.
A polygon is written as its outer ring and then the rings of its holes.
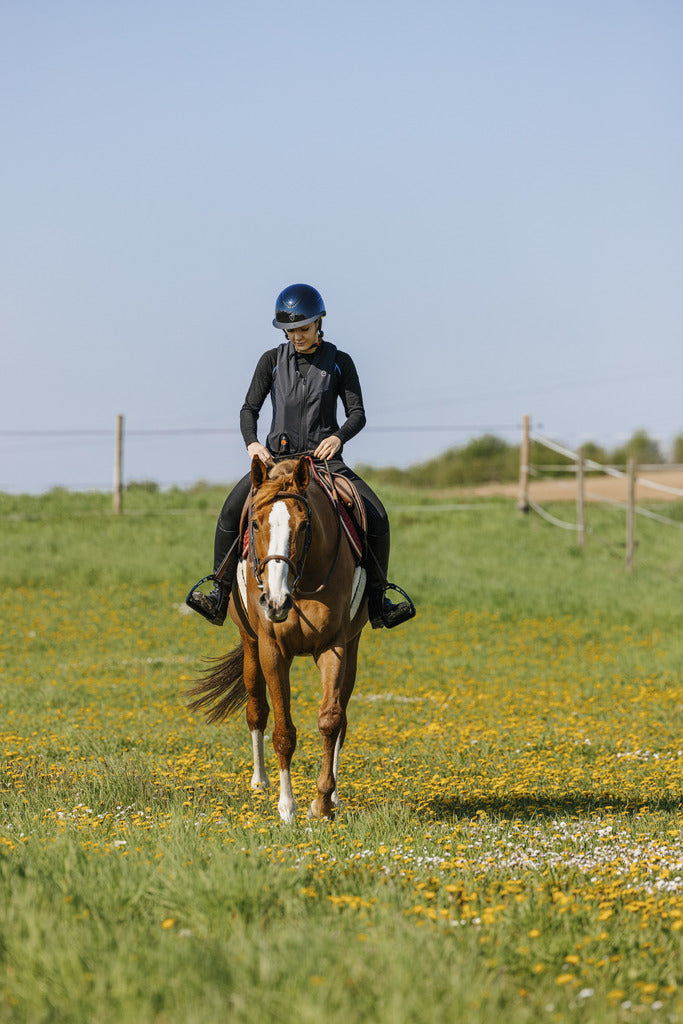
{"type": "Polygon", "coordinates": [[[286,826],[184,706],[237,642],[182,603],[221,497],[0,496],[0,1022],[683,1022],[681,532],[628,574],[613,510],[582,552],[383,492],[418,618],[361,641],[342,813],[286,826]]]}

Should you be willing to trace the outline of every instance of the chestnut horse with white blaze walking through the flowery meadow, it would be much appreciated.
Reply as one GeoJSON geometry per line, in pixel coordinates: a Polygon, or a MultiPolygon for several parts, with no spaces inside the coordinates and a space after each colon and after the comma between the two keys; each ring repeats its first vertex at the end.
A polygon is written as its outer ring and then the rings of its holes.
{"type": "Polygon", "coordinates": [[[267,788],[263,733],[270,696],[272,745],[280,766],[283,821],[296,814],[291,763],[296,727],[290,707],[290,668],[297,655],[311,654],[321,673],[323,699],[317,726],[323,737],[323,763],[317,797],[309,816],[334,817],[339,806],[337,771],[346,734],[346,707],[353,690],[360,632],[368,622],[368,602],[354,593],[365,582],[365,569],[344,535],[338,511],[321,486],[310,479],[308,459],[279,463],[267,473],[252,460],[248,558],[238,578],[246,582],[246,607],[236,581],[230,615],[241,643],[189,694],[194,710],[205,709],[216,722],[247,703],[252,734],[252,788],[267,788]],[[246,581],[245,581],[246,575],[246,581]],[[242,614],[241,614],[242,612],[242,614]]]}

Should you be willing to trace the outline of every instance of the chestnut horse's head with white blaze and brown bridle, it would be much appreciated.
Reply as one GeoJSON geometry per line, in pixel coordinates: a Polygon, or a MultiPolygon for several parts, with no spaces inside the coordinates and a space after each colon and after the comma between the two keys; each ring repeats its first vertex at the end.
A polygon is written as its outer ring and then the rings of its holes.
{"type": "Polygon", "coordinates": [[[310,506],[305,490],[310,479],[305,458],[281,462],[268,473],[252,460],[253,487],[250,557],[261,589],[259,604],[271,623],[283,623],[310,544],[310,506]],[[290,582],[291,577],[291,582],[290,582]]]}

